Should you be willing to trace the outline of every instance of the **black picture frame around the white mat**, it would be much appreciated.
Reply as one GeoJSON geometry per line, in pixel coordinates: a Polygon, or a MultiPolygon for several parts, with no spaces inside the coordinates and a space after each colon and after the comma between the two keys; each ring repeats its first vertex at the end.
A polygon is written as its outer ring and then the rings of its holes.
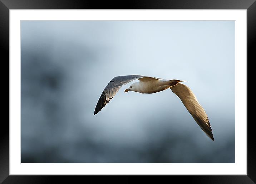
{"type": "MultiPolygon", "coordinates": [[[[256,2],[255,0],[129,0],[129,1],[93,1],[93,0],[0,0],[0,48],[3,79],[9,78],[9,10],[10,9],[246,9],[247,10],[247,63],[256,61],[256,2]]],[[[6,82],[7,80],[2,80],[6,82]]],[[[4,83],[5,84],[5,83],[4,83]]],[[[9,80],[5,86],[8,85],[9,80]],[[8,83],[8,84],[7,84],[8,83]]],[[[2,88],[3,91],[5,88],[2,88]]],[[[3,98],[7,99],[7,98],[3,98]]],[[[8,101],[9,102],[9,101],[8,101]]],[[[9,103],[8,103],[9,104],[9,103]]],[[[8,105],[9,107],[9,105],[8,105]]],[[[4,108],[3,115],[9,114],[9,108],[4,108]]],[[[9,120],[9,116],[8,116],[9,120]]],[[[243,122],[241,122],[243,123],[243,122]]],[[[57,179],[75,183],[75,180],[95,176],[21,176],[9,175],[9,121],[3,121],[0,133],[0,183],[53,183],[57,179]]],[[[255,183],[255,138],[253,137],[253,121],[247,123],[247,175],[212,175],[212,176],[166,176],[178,179],[179,182],[190,183],[255,183]]],[[[109,178],[108,176],[99,177],[109,178]]],[[[119,182],[127,183],[130,178],[124,176],[119,182]]],[[[131,177],[133,178],[133,177],[131,177]]],[[[169,179],[169,178],[168,178],[169,179]]],[[[84,180],[85,182],[85,180],[84,180]]]]}

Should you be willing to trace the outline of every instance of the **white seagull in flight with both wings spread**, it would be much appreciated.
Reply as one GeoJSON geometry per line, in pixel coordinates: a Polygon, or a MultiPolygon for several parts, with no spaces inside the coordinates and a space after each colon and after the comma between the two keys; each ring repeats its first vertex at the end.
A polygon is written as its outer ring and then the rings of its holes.
{"type": "Polygon", "coordinates": [[[195,119],[197,124],[201,129],[210,137],[212,140],[212,128],[209,122],[208,116],[203,109],[203,107],[197,101],[195,94],[191,89],[179,82],[184,82],[181,80],[165,80],[157,77],[147,77],[141,75],[126,75],[126,76],[117,76],[114,77],[108,85],[104,88],[98,103],[94,110],[94,115],[97,114],[106,104],[115,96],[119,91],[122,85],[133,80],[139,80],[139,82],[133,83],[129,88],[124,92],[134,91],[139,93],[157,93],[163,90],[170,88],[173,93],[175,93],[182,101],[184,106],[187,108],[188,112],[195,119]]]}

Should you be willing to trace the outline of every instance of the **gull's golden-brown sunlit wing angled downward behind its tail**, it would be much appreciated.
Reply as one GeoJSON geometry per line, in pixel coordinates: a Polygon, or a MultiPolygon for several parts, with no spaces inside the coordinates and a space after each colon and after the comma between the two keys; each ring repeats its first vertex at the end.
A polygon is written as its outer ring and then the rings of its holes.
{"type": "Polygon", "coordinates": [[[188,109],[188,112],[192,115],[192,117],[202,128],[202,130],[207,134],[207,136],[214,140],[211,124],[209,122],[207,114],[203,107],[197,101],[197,98],[195,94],[191,91],[191,89],[181,83],[172,86],[170,89],[181,99],[184,106],[188,109]]]}

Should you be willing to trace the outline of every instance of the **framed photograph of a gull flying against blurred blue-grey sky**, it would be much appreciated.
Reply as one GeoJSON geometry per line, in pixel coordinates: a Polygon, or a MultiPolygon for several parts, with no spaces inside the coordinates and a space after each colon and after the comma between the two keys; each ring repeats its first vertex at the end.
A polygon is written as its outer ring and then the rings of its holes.
{"type": "Polygon", "coordinates": [[[236,163],[235,20],[21,20],[22,163],[236,163]]]}

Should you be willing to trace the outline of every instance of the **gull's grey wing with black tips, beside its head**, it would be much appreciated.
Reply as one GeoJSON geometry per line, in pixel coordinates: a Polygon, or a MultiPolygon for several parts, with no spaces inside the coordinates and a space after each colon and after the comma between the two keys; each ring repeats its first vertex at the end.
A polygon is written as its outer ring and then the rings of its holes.
{"type": "Polygon", "coordinates": [[[128,82],[142,78],[145,76],[141,75],[125,75],[114,77],[108,85],[104,88],[102,94],[100,95],[99,101],[95,107],[94,115],[97,114],[106,104],[112,99],[122,85],[126,85],[128,82]]]}

